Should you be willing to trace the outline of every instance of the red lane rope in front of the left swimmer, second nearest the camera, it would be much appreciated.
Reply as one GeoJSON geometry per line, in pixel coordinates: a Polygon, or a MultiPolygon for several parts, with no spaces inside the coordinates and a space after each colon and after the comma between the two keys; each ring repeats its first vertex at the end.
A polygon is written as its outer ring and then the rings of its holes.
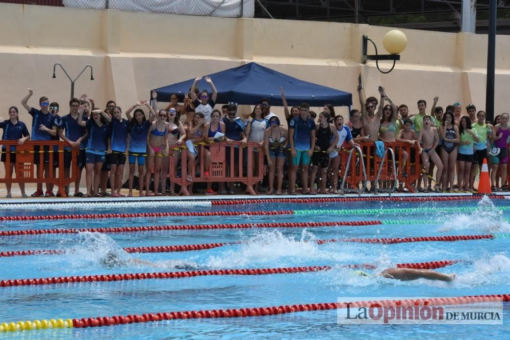
{"type": "MultiPolygon", "coordinates": [[[[397,268],[416,268],[416,269],[438,269],[451,266],[458,263],[458,260],[430,261],[419,263],[400,263],[397,268]]],[[[363,268],[375,269],[377,266],[371,264],[362,265],[343,265],[341,268],[363,268]]],[[[220,270],[193,270],[184,272],[156,272],[156,273],[125,273],[125,274],[100,274],[83,276],[60,276],[34,279],[14,279],[1,280],[0,287],[11,287],[21,285],[43,285],[75,282],[110,282],[125,280],[145,280],[145,279],[172,279],[194,276],[211,275],[268,275],[268,274],[293,274],[319,272],[332,269],[331,266],[310,266],[310,267],[286,267],[286,268],[257,268],[257,269],[220,269],[220,270]]]]}

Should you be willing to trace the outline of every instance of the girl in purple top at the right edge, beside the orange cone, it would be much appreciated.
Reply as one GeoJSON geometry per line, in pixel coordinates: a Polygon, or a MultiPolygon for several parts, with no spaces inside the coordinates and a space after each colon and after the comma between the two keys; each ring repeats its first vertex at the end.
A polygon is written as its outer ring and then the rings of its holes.
{"type": "Polygon", "coordinates": [[[510,129],[508,128],[508,114],[503,113],[500,117],[501,123],[496,124],[492,130],[492,141],[494,146],[499,148],[499,154],[496,156],[491,156],[492,159],[492,172],[491,172],[491,186],[492,189],[495,190],[495,181],[496,181],[496,173],[500,172],[502,187],[501,190],[506,191],[507,187],[505,185],[506,180],[506,167],[508,164],[508,148],[507,148],[507,140],[508,136],[510,136],[510,129]]]}

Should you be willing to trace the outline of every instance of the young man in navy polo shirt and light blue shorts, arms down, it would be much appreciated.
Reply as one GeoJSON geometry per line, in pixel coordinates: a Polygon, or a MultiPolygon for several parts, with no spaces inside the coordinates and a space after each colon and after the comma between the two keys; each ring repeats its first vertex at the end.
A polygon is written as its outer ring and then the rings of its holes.
{"type": "Polygon", "coordinates": [[[299,107],[299,116],[289,123],[289,144],[292,155],[292,165],[289,171],[289,195],[296,195],[296,173],[299,164],[302,164],[301,187],[302,193],[308,194],[308,166],[310,157],[315,148],[315,122],[309,115],[310,106],[302,103],[299,107]]]}

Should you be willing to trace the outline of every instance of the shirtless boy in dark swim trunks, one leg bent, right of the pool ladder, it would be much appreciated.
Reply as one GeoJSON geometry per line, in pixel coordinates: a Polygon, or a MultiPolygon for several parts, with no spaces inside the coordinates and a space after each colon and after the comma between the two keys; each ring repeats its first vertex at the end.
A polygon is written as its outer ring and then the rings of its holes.
{"type": "MultiPolygon", "coordinates": [[[[436,147],[439,145],[438,129],[431,125],[432,121],[430,116],[426,115],[423,117],[423,127],[420,129],[416,146],[418,147],[418,153],[421,154],[421,163],[424,170],[422,175],[425,186],[430,166],[429,161],[431,160],[438,168],[436,171],[436,185],[434,186],[434,191],[439,192],[439,182],[443,174],[443,163],[436,152],[436,147]]],[[[425,189],[425,192],[428,192],[428,189],[425,189]]]]}

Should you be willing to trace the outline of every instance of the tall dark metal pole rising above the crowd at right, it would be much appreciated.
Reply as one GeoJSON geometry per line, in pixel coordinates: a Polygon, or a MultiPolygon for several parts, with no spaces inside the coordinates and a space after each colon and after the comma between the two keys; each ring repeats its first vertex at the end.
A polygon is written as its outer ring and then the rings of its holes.
{"type": "MultiPolygon", "coordinates": [[[[487,43],[487,92],[485,96],[485,111],[487,120],[494,119],[494,69],[496,68],[496,0],[490,0],[489,6],[489,36],[487,43]]],[[[495,122],[494,122],[495,123],[495,122]]]]}

